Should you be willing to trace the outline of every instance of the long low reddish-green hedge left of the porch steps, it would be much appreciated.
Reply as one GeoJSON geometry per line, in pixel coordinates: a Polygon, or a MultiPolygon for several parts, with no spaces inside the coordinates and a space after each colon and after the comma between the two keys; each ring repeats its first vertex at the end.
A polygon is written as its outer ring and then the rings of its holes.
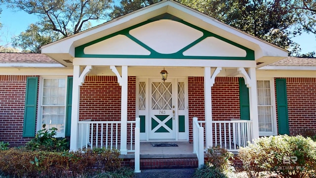
{"type": "Polygon", "coordinates": [[[8,177],[65,178],[97,174],[131,173],[121,170],[118,150],[96,148],[85,152],[32,151],[10,148],[0,151],[0,172],[8,177]]]}

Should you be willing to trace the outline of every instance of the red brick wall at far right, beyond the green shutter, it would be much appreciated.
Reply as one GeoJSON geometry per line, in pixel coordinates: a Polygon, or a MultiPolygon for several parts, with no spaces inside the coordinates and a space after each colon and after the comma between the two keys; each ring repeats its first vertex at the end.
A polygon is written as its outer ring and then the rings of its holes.
{"type": "Polygon", "coordinates": [[[286,78],[290,135],[316,132],[316,78],[286,78]]]}

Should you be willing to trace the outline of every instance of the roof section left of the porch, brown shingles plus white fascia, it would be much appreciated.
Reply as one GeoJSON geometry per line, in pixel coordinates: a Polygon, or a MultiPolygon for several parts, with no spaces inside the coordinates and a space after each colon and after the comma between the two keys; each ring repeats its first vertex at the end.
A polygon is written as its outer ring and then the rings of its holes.
{"type": "Polygon", "coordinates": [[[41,53],[0,52],[0,67],[64,67],[41,53]]]}

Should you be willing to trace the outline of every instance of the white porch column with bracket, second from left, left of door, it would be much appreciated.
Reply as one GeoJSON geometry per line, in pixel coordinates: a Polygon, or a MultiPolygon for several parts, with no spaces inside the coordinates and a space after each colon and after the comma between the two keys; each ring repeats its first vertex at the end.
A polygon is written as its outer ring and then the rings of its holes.
{"type": "Polygon", "coordinates": [[[127,66],[122,66],[122,76],[119,75],[115,66],[110,66],[118,77],[118,84],[121,86],[121,110],[120,110],[120,154],[127,154],[127,66]]]}

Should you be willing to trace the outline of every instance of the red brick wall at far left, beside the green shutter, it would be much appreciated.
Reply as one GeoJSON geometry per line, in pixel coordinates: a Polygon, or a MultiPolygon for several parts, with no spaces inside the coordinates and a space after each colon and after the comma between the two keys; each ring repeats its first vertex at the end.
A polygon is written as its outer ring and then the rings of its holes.
{"type": "Polygon", "coordinates": [[[9,142],[10,146],[23,145],[31,139],[22,137],[27,77],[0,76],[0,141],[9,142]]]}

